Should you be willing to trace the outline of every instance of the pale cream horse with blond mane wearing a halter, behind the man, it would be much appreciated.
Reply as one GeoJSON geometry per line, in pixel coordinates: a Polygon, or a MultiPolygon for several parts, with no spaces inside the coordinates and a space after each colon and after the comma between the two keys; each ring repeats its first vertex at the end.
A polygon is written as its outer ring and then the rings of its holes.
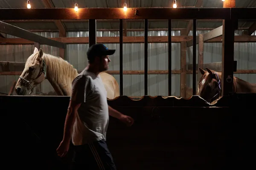
{"type": "MultiPolygon", "coordinates": [[[[70,63],[60,57],[46,54],[42,49],[38,51],[35,47],[34,53],[25,63],[15,91],[17,95],[26,95],[30,90],[31,94],[37,84],[47,79],[57,95],[71,96],[72,81],[77,75],[77,70],[70,63]]],[[[99,75],[107,91],[107,98],[113,99],[119,96],[119,85],[116,79],[105,72],[99,75]]]]}

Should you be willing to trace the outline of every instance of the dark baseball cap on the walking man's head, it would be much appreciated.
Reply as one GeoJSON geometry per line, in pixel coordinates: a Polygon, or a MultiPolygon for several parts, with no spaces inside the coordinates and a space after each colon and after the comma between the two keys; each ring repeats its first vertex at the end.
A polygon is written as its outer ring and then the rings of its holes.
{"type": "Polygon", "coordinates": [[[103,55],[113,55],[115,52],[115,49],[108,49],[108,47],[102,43],[97,43],[90,46],[90,48],[87,50],[87,58],[88,60],[91,60],[97,56],[101,57],[103,55]]]}

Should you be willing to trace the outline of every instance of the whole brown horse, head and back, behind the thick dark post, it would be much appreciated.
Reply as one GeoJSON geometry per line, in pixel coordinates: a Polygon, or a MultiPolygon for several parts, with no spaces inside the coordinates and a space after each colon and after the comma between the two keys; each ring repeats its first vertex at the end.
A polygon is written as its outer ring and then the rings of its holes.
{"type": "MultiPolygon", "coordinates": [[[[211,103],[221,96],[221,72],[206,68],[199,68],[202,77],[198,83],[198,95],[211,103]]],[[[256,93],[256,84],[248,83],[240,78],[233,77],[233,92],[256,93]]]]}

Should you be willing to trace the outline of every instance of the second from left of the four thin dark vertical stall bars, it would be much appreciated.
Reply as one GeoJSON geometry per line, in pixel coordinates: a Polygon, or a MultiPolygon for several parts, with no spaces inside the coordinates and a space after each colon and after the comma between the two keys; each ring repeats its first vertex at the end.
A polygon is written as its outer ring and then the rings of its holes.
{"type": "Polygon", "coordinates": [[[144,89],[145,95],[148,95],[148,19],[145,19],[144,21],[144,30],[144,89]]]}

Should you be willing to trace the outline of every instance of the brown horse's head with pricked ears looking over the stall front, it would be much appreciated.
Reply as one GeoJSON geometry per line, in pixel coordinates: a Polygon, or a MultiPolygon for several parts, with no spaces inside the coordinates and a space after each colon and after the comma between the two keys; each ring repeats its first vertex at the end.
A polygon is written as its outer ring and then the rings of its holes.
{"type": "Polygon", "coordinates": [[[207,71],[199,68],[202,77],[198,84],[198,95],[211,103],[221,95],[221,73],[206,68],[207,71]]]}

